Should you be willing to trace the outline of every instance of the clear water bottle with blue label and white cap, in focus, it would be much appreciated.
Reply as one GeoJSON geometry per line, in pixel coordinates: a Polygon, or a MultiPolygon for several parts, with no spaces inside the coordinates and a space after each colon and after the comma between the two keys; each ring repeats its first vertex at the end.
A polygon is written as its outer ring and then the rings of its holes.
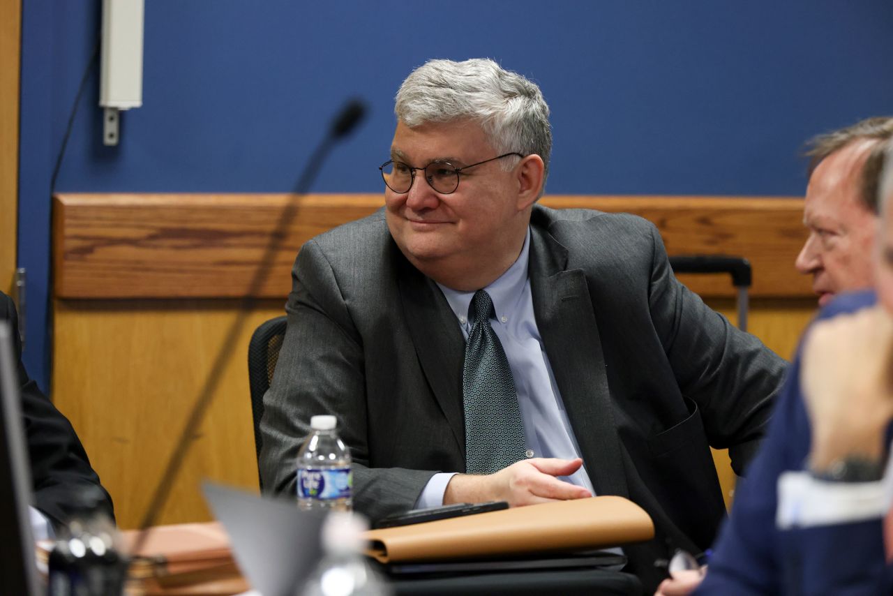
{"type": "Polygon", "coordinates": [[[337,424],[335,416],[313,416],[313,432],[297,452],[297,506],[305,511],[350,511],[350,451],[337,424]]]}

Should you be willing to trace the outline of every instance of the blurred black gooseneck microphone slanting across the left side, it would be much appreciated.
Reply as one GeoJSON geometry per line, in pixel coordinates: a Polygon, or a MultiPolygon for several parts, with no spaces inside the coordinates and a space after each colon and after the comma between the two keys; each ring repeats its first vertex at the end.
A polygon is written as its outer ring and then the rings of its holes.
{"type": "Polygon", "coordinates": [[[263,251],[261,261],[257,265],[257,269],[255,269],[255,275],[252,277],[251,283],[248,286],[248,290],[246,290],[245,296],[241,299],[236,320],[230,325],[230,329],[223,340],[221,349],[217,352],[217,356],[214,357],[211,372],[204,380],[204,385],[202,386],[202,390],[199,391],[196,404],[189,412],[189,416],[186,424],[183,426],[182,432],[179,433],[179,438],[173,449],[171,459],[164,468],[162,478],[152,494],[152,499],[149,500],[149,507],[146,510],[146,515],[143,516],[143,519],[139,524],[139,533],[133,544],[132,551],[134,553],[141,550],[146,544],[146,539],[151,531],[151,527],[155,524],[158,514],[161,512],[171,494],[173,481],[186,458],[189,442],[195,435],[199,424],[201,424],[202,419],[204,418],[205,412],[211,405],[214,391],[217,390],[217,386],[226,369],[227,362],[230,359],[231,352],[233,348],[236,347],[242,329],[245,327],[249,312],[257,302],[255,294],[266,282],[267,277],[270,274],[273,257],[279,252],[280,246],[286,238],[286,232],[291,226],[292,221],[295,219],[295,215],[297,214],[297,198],[304,195],[307,190],[310,189],[313,180],[315,180],[316,175],[320,171],[321,164],[329,155],[331,147],[333,147],[338,140],[346,138],[346,136],[349,135],[363,120],[365,113],[366,107],[361,100],[351,99],[348,101],[338,112],[338,115],[332,120],[329,133],[313,150],[310,159],[305,165],[304,171],[301,172],[295,185],[295,190],[286,206],[283,207],[279,221],[276,223],[276,228],[270,235],[267,246],[263,251]]]}

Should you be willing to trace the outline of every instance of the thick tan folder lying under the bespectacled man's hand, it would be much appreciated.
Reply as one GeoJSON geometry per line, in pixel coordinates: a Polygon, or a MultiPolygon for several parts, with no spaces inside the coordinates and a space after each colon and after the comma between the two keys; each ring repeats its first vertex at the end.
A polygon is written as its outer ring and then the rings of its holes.
{"type": "Polygon", "coordinates": [[[382,563],[494,558],[591,550],[654,538],[644,509],[622,497],[593,497],[371,530],[367,554],[382,563]]]}

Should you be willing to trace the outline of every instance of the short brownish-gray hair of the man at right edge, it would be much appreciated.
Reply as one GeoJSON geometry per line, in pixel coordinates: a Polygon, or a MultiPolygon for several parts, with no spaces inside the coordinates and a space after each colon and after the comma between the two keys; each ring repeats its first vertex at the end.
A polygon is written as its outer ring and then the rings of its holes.
{"type": "Polygon", "coordinates": [[[880,164],[883,162],[884,141],[893,138],[893,118],[875,116],[856,122],[846,128],[814,137],[809,141],[809,147],[805,155],[810,157],[809,175],[812,176],[815,168],[822,163],[825,157],[837,153],[840,149],[849,146],[855,141],[878,141],[872,147],[871,153],[865,158],[861,172],[860,197],[866,209],[873,214],[878,210],[878,180],[880,164]]]}

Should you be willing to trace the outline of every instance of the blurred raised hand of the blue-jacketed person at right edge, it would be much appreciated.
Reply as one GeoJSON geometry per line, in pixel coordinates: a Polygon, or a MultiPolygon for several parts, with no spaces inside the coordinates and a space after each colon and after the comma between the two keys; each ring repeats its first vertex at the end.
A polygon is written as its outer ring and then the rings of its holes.
{"type": "Polygon", "coordinates": [[[880,459],[893,416],[893,318],[880,306],[815,323],[800,382],[813,426],[810,466],[880,459]]]}

